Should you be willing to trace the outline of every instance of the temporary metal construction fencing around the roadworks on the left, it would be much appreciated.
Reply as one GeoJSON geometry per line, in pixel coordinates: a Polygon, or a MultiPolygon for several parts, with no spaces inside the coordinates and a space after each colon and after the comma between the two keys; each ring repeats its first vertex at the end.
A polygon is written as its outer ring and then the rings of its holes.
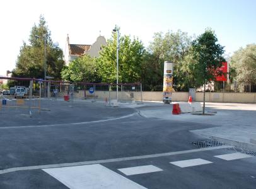
{"type": "Polygon", "coordinates": [[[44,101],[44,105],[49,109],[54,105],[54,100],[67,101],[67,105],[75,105],[74,103],[81,101],[101,101],[106,105],[112,100],[118,100],[120,103],[143,101],[141,83],[71,83],[18,77],[0,79],[8,86],[8,89],[1,93],[1,110],[15,108],[29,115],[40,113],[41,101],[44,101]],[[21,88],[22,94],[18,93],[21,88]]]}

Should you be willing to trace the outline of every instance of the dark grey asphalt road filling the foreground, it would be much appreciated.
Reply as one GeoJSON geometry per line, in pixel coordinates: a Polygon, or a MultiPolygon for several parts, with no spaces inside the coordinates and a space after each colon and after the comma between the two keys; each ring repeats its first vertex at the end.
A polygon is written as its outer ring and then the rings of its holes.
{"type": "Polygon", "coordinates": [[[226,161],[214,156],[236,149],[201,151],[190,144],[206,139],[189,130],[216,125],[144,118],[135,109],[100,103],[52,105],[32,118],[2,110],[0,188],[97,188],[101,182],[98,188],[115,188],[122,180],[116,188],[256,188],[255,157],[226,161]],[[191,159],[199,165],[172,164],[191,159]],[[132,169],[125,175],[119,170],[141,166],[158,171],[134,174],[132,169]],[[89,178],[79,168],[88,170],[89,178]],[[117,182],[109,183],[111,176],[117,182]]]}

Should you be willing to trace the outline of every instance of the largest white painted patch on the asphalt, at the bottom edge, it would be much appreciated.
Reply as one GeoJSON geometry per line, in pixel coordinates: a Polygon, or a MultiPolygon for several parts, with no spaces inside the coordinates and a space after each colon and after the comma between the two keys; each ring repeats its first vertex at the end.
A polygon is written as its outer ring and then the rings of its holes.
{"type": "Polygon", "coordinates": [[[69,188],[146,189],[101,164],[43,169],[69,188]]]}

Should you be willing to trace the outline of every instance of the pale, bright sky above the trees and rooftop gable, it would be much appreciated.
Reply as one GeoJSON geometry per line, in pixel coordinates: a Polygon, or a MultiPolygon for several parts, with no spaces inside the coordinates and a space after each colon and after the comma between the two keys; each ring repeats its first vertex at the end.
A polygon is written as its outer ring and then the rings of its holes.
{"type": "Polygon", "coordinates": [[[148,47],[156,32],[215,31],[225,54],[256,43],[255,0],[9,0],[0,6],[0,75],[12,71],[23,42],[28,42],[40,14],[51,37],[65,51],[70,43],[90,45],[100,35],[110,38],[115,25],[121,35],[138,37],[148,47]]]}

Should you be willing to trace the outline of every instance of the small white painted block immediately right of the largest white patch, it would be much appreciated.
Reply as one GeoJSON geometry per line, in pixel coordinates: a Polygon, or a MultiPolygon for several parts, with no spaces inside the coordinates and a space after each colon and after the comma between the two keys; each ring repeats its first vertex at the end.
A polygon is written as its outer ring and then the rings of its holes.
{"type": "Polygon", "coordinates": [[[132,168],[122,168],[118,170],[124,173],[125,175],[139,175],[144,173],[153,173],[157,171],[163,171],[162,169],[153,165],[137,166],[132,168]]]}

